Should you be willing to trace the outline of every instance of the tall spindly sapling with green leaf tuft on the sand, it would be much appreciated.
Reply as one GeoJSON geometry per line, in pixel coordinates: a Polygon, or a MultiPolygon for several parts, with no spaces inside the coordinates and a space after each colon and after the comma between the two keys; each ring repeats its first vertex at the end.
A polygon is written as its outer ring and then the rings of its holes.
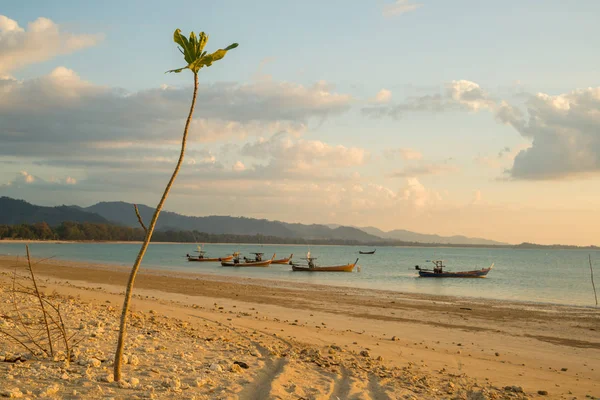
{"type": "Polygon", "coordinates": [[[138,213],[137,207],[135,211],[138,215],[138,219],[140,224],[146,231],[146,236],[144,238],[144,243],[142,243],[142,247],[140,248],[140,252],[135,259],[135,263],[131,268],[131,274],[129,275],[129,281],[127,282],[127,291],[125,292],[125,300],[123,301],[123,310],[121,312],[121,325],[119,330],[119,339],[117,342],[117,350],[115,352],[115,364],[114,364],[114,379],[115,381],[119,381],[121,379],[121,362],[123,360],[123,348],[125,344],[125,331],[127,327],[127,313],[129,311],[129,303],[131,302],[131,294],[133,290],[133,282],[135,281],[135,276],[140,268],[140,264],[142,263],[142,259],[144,258],[144,254],[146,253],[146,249],[148,248],[148,244],[150,243],[150,239],[152,238],[152,233],[154,232],[154,227],[156,226],[156,221],[158,220],[158,216],[160,211],[167,200],[167,196],[169,195],[169,191],[171,190],[171,186],[173,186],[173,182],[175,182],[175,178],[179,173],[179,169],[181,168],[181,164],[183,162],[183,156],[185,154],[185,145],[187,142],[188,130],[190,127],[190,123],[192,121],[192,114],[194,113],[194,107],[196,105],[196,95],[198,94],[198,71],[200,71],[203,67],[210,67],[213,62],[218,61],[225,57],[225,54],[231,49],[235,49],[238,44],[233,43],[232,45],[215,51],[212,54],[208,54],[204,51],[204,46],[206,46],[206,42],[208,41],[208,36],[204,32],[200,32],[198,37],[194,34],[194,32],[190,33],[189,39],[181,34],[181,30],[175,30],[173,34],[173,40],[175,43],[179,45],[178,49],[183,54],[183,58],[187,65],[182,68],[173,69],[167,72],[176,72],[179,73],[184,69],[189,69],[194,74],[194,94],[192,96],[192,105],[190,107],[190,112],[188,114],[187,121],[185,122],[185,128],[183,130],[183,138],[181,140],[181,153],[179,154],[179,160],[177,161],[177,165],[175,166],[175,170],[173,171],[173,175],[167,183],[165,187],[165,191],[160,199],[160,202],[156,206],[156,210],[154,211],[154,215],[152,216],[152,220],[150,221],[150,225],[146,228],[142,219],[138,213]]]}

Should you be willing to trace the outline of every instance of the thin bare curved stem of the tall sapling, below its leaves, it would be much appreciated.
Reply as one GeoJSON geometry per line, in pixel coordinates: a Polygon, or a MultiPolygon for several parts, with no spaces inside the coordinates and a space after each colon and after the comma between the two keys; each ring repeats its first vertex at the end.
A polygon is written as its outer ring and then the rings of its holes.
{"type": "Polygon", "coordinates": [[[179,169],[181,168],[181,164],[183,163],[183,157],[185,154],[185,145],[187,143],[187,135],[190,127],[190,123],[192,121],[192,114],[194,113],[194,107],[196,106],[196,95],[198,94],[198,74],[194,74],[194,95],[192,97],[192,105],[190,106],[190,113],[188,115],[188,119],[185,122],[185,129],[183,131],[183,138],[181,140],[181,153],[179,154],[179,161],[177,161],[177,166],[173,171],[173,175],[171,176],[171,180],[165,187],[165,191],[160,199],[160,202],[156,206],[156,210],[154,211],[154,215],[152,216],[152,220],[150,221],[150,225],[148,226],[148,230],[146,232],[146,236],[144,238],[144,243],[142,243],[142,247],[140,248],[140,252],[135,259],[135,263],[131,268],[131,274],[129,275],[129,281],[127,282],[127,291],[125,292],[125,300],[123,301],[123,310],[121,312],[121,325],[119,329],[119,339],[117,342],[117,350],[115,352],[115,365],[114,365],[114,379],[115,381],[121,380],[121,362],[123,360],[123,348],[125,344],[125,331],[127,328],[127,312],[129,311],[129,303],[131,302],[131,295],[133,291],[133,282],[135,281],[135,276],[140,268],[140,264],[142,263],[142,259],[144,258],[144,254],[146,253],[146,249],[150,244],[150,239],[152,238],[152,233],[154,232],[154,227],[156,226],[156,221],[158,220],[158,216],[160,215],[160,211],[167,200],[167,196],[169,195],[169,191],[171,190],[171,186],[175,182],[175,178],[179,173],[179,169]]]}

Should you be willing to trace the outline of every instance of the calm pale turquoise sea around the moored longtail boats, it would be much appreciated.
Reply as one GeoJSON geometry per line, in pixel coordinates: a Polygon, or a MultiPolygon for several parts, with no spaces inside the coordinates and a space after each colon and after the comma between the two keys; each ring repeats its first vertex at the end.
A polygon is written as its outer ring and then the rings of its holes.
{"type": "MultiPolygon", "coordinates": [[[[23,255],[23,244],[0,243],[0,254],[23,255]]],[[[113,263],[130,266],[139,244],[52,244],[30,246],[36,258],[113,263]]],[[[533,301],[569,305],[594,305],[588,254],[596,264],[596,282],[600,289],[600,251],[588,250],[512,250],[471,248],[381,247],[375,255],[359,255],[352,246],[311,246],[311,254],[322,265],[345,264],[360,258],[359,273],[291,272],[287,265],[270,268],[222,268],[218,263],[190,263],[183,255],[196,249],[193,244],[151,244],[143,267],[173,271],[201,272],[221,276],[243,276],[283,281],[330,284],[398,292],[533,301]],[[486,279],[417,279],[414,266],[425,260],[444,259],[448,270],[494,269],[486,279]]],[[[240,251],[248,255],[261,251],[265,257],[294,258],[306,254],[306,246],[207,244],[211,257],[240,251]]]]}

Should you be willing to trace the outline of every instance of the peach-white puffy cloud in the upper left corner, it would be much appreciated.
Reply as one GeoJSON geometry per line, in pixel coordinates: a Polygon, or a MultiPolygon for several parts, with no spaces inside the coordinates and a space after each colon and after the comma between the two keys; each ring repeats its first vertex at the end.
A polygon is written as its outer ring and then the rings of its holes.
{"type": "Polygon", "coordinates": [[[0,15],[0,76],[29,64],[96,45],[102,35],[61,32],[60,27],[40,17],[21,28],[17,21],[0,15]]]}

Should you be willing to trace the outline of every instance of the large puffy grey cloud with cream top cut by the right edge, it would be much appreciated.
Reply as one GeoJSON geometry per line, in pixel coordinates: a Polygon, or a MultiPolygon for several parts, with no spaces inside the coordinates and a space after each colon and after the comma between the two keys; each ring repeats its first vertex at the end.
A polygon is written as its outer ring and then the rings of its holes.
{"type": "Polygon", "coordinates": [[[524,113],[503,102],[496,118],[512,126],[531,147],[507,172],[514,179],[548,180],[600,172],[600,87],[556,96],[530,96],[524,113]]]}

